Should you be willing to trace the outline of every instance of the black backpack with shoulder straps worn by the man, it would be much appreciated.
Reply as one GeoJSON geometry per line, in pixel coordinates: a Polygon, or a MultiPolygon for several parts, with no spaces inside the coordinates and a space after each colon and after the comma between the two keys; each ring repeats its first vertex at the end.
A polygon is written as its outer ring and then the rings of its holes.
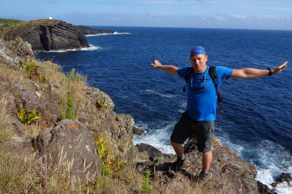
{"type": "MultiPolygon", "coordinates": [[[[190,78],[190,75],[194,72],[194,68],[193,67],[189,67],[189,69],[187,70],[187,74],[186,74],[186,85],[188,83],[188,79],[190,78]]],[[[218,87],[218,77],[216,74],[216,67],[215,66],[210,66],[209,68],[209,75],[210,77],[213,79],[214,82],[214,86],[215,86],[215,90],[216,90],[216,95],[217,95],[217,108],[221,109],[222,106],[222,97],[221,97],[221,91],[220,91],[220,87],[218,87]]],[[[183,89],[183,92],[186,92],[186,85],[183,89]]]]}

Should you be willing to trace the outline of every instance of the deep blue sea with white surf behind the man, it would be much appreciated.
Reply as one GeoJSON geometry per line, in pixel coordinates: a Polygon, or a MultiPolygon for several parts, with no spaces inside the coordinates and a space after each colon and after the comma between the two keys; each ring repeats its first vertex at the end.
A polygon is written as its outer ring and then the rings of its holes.
{"type": "MultiPolygon", "coordinates": [[[[75,68],[88,84],[107,93],[116,113],[130,114],[148,143],[173,153],[169,136],[186,108],[184,80],[150,66],[189,66],[189,52],[204,46],[208,65],[232,69],[274,68],[292,62],[292,31],[195,28],[95,27],[126,34],[87,37],[85,50],[39,52],[64,72],[75,68]]],[[[258,169],[257,179],[269,185],[282,172],[292,172],[292,68],[279,75],[225,80],[223,106],[217,112],[215,138],[258,169]]],[[[271,186],[269,185],[271,188],[271,186]]],[[[281,184],[278,193],[292,194],[281,184]]]]}

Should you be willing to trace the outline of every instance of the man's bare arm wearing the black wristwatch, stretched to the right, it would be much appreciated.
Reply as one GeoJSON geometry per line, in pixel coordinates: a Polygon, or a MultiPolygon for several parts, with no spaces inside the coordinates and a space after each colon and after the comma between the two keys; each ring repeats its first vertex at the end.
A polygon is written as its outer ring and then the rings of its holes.
{"type": "MultiPolygon", "coordinates": [[[[287,67],[288,61],[272,70],[272,75],[279,74],[282,70],[287,67]]],[[[259,70],[254,68],[244,68],[239,70],[233,70],[233,73],[229,79],[250,79],[260,78],[269,75],[269,70],[259,70]]]]}

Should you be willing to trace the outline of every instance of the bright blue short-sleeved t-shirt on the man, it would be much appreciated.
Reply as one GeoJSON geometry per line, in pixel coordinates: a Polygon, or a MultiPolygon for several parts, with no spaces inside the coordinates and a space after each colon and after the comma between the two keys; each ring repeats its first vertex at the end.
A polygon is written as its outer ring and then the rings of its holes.
{"type": "MultiPolygon", "coordinates": [[[[178,75],[186,78],[187,70],[189,67],[179,68],[178,75]]],[[[225,67],[216,67],[218,77],[218,86],[224,79],[228,79],[232,75],[233,70],[225,67]]],[[[187,110],[188,116],[195,120],[215,120],[217,108],[217,95],[214,82],[209,75],[209,66],[206,72],[196,74],[193,72],[188,79],[188,100],[187,110]],[[204,85],[204,74],[205,85],[204,85]],[[203,87],[204,85],[204,87],[203,87]],[[200,89],[203,88],[203,89],[200,89]]]]}

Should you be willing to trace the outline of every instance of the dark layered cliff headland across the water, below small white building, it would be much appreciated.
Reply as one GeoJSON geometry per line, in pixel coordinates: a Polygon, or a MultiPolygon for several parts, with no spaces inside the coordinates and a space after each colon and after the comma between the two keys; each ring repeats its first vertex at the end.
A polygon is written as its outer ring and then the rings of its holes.
{"type": "Polygon", "coordinates": [[[72,24],[60,20],[32,20],[2,32],[4,39],[17,37],[29,42],[35,51],[90,47],[72,24]]]}

